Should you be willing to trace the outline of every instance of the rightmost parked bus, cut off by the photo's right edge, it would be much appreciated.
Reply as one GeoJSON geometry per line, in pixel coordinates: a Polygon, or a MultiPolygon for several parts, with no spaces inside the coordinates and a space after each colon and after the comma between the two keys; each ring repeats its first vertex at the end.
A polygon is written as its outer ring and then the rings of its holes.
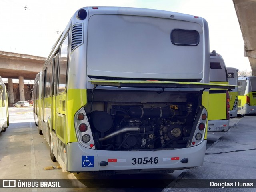
{"type": "Polygon", "coordinates": [[[256,114],[256,76],[238,77],[238,114],[256,114]]]}

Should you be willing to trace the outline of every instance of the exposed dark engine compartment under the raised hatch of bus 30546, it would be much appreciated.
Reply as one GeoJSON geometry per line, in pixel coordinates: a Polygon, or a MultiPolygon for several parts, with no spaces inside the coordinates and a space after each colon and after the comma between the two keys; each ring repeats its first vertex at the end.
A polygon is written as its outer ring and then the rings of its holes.
{"type": "Polygon", "coordinates": [[[185,148],[194,134],[201,92],[92,92],[85,111],[99,150],[185,148]]]}

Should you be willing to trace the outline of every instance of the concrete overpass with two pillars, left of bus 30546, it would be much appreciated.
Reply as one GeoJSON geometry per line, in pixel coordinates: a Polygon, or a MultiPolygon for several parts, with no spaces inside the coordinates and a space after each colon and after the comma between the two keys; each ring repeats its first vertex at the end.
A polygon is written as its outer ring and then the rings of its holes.
{"type": "Polygon", "coordinates": [[[25,100],[24,79],[34,80],[46,58],[0,51],[0,76],[8,78],[9,103],[14,103],[12,79],[19,79],[20,100],[25,100]]]}

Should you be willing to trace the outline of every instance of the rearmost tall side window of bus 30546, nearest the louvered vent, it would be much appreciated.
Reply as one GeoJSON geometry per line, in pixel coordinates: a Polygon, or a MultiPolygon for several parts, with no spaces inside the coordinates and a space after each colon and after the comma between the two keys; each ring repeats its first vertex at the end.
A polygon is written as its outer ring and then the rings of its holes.
{"type": "Polygon", "coordinates": [[[60,66],[58,67],[58,93],[65,92],[68,68],[68,35],[60,47],[60,66]]]}

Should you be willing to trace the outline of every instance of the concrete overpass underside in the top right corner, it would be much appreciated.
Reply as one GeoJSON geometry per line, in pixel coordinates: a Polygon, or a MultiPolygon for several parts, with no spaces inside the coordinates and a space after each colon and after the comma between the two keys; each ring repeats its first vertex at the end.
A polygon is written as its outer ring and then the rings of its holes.
{"type": "Polygon", "coordinates": [[[256,75],[256,0],[233,0],[244,39],[244,56],[249,58],[256,75]]]}

